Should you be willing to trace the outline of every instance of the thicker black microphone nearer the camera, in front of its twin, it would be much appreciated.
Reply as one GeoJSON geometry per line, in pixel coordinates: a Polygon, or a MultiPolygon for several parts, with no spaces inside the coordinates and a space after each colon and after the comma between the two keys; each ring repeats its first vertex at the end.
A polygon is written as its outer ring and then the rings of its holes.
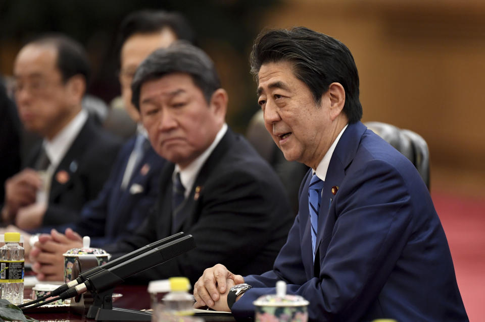
{"type": "Polygon", "coordinates": [[[87,291],[102,292],[108,290],[134,274],[148,270],[154,266],[165,263],[166,261],[196,247],[192,235],[183,236],[177,240],[170,241],[146,253],[140,254],[132,259],[118,264],[107,270],[100,268],[101,271],[90,275],[84,283],[60,294],[61,299],[67,299],[80,295],[87,291]]]}

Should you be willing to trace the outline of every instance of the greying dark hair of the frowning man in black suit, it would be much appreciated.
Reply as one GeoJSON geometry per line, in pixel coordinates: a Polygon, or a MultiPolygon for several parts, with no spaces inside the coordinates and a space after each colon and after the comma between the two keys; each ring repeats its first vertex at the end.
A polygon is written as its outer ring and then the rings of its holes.
{"type": "Polygon", "coordinates": [[[212,94],[221,87],[212,59],[202,49],[177,41],[167,48],[155,50],[140,64],[131,83],[133,105],[140,108],[140,88],[143,83],[172,73],[189,74],[208,103],[212,94]]]}

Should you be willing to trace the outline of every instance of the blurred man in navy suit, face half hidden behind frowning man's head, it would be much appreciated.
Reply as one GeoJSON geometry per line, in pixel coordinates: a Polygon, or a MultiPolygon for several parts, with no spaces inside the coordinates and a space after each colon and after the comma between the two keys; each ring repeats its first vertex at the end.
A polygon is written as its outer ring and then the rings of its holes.
{"type": "MultiPolygon", "coordinates": [[[[31,253],[33,269],[41,280],[59,280],[62,254],[81,247],[80,235],[91,237],[91,246],[103,247],[131,235],[156,202],[160,171],[165,165],[151,147],[140,115],[131,102],[131,81],[138,65],[151,52],[176,39],[193,41],[185,19],[177,13],[139,11],[127,16],[120,25],[117,40],[120,52],[121,94],[128,115],[138,123],[137,134],[122,147],[96,200],[86,204],[74,225],[55,227],[51,236],[40,236],[31,253]],[[58,231],[64,231],[65,234],[58,231]]],[[[44,227],[42,232],[50,232],[44,227]]]]}

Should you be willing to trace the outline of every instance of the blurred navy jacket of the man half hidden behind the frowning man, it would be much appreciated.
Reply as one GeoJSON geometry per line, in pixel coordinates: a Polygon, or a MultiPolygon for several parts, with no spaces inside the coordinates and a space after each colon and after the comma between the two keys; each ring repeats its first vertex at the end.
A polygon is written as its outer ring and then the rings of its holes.
{"type": "Polygon", "coordinates": [[[134,168],[127,188],[121,189],[135,140],[136,136],[122,147],[103,189],[84,206],[79,220],[74,225],[56,227],[58,230],[72,227],[79,234],[90,236],[91,246],[103,247],[128,237],[138,228],[155,205],[160,171],[166,161],[150,147],[134,168]]]}

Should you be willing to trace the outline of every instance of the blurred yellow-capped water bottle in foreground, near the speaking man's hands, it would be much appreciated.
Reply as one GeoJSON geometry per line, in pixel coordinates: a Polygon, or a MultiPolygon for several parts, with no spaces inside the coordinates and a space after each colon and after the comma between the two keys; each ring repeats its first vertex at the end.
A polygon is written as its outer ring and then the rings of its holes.
{"type": "Polygon", "coordinates": [[[188,292],[190,282],[186,277],[172,277],[170,292],[163,298],[165,311],[173,315],[192,315],[192,305],[195,302],[193,295],[188,292]]]}

